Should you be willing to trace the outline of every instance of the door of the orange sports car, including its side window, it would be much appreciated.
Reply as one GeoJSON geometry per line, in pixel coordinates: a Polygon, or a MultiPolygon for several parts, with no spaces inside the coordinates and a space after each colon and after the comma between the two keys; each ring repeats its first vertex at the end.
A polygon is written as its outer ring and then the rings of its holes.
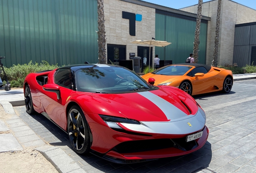
{"type": "Polygon", "coordinates": [[[191,77],[193,94],[207,93],[212,89],[213,75],[203,66],[192,69],[187,75],[191,77]],[[195,77],[196,73],[204,73],[204,76],[195,77]]]}

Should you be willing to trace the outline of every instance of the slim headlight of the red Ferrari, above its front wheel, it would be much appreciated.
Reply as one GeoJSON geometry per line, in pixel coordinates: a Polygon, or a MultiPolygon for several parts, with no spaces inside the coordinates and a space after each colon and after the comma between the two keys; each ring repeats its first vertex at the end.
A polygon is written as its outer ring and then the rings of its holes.
{"type": "Polygon", "coordinates": [[[113,129],[123,129],[118,125],[118,123],[128,123],[128,124],[136,124],[140,125],[140,122],[132,119],[120,118],[120,117],[111,117],[106,115],[99,115],[101,119],[113,129]]]}

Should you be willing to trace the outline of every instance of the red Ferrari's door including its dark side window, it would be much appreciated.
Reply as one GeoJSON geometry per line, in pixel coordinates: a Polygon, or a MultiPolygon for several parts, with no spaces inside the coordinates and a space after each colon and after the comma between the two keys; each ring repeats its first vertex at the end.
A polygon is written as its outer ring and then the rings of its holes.
{"type": "Polygon", "coordinates": [[[69,68],[60,68],[54,74],[54,83],[60,86],[60,99],[55,93],[42,91],[41,103],[47,115],[57,125],[66,129],[66,102],[68,97],[74,92],[74,75],[69,68]]]}

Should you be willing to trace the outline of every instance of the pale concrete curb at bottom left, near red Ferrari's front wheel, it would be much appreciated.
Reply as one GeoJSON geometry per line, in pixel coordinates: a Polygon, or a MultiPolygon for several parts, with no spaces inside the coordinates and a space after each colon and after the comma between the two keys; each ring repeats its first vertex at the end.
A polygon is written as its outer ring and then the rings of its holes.
{"type": "Polygon", "coordinates": [[[69,157],[62,149],[52,146],[37,147],[47,161],[50,161],[56,170],[60,173],[86,173],[71,157],[69,157]]]}

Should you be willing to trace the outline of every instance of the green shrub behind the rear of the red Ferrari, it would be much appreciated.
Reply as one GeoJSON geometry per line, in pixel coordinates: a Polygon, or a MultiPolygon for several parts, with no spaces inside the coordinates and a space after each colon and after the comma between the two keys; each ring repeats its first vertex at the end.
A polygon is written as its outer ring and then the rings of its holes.
{"type": "MultiPolygon", "coordinates": [[[[47,61],[42,61],[40,64],[37,62],[33,64],[32,61],[30,61],[28,64],[13,65],[10,68],[4,67],[4,71],[11,84],[11,87],[23,87],[24,79],[29,73],[43,70],[53,70],[59,67],[60,66],[58,66],[58,64],[50,65],[47,61]]],[[[0,73],[0,77],[2,80],[5,80],[3,72],[0,73]]]]}

